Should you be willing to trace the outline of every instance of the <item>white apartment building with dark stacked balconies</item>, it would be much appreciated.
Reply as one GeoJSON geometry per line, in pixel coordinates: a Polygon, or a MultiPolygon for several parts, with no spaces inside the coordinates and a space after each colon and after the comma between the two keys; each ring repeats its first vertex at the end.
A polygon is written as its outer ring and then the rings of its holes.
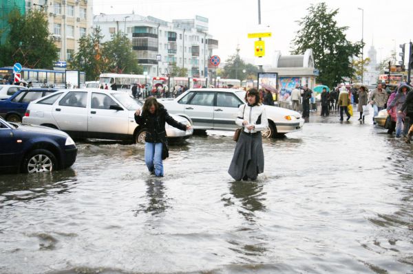
{"type": "Polygon", "coordinates": [[[127,34],[133,57],[152,77],[167,76],[172,65],[186,68],[188,77],[208,77],[209,58],[218,48],[218,41],[208,34],[208,19],[202,16],[167,22],[138,14],[100,14],[94,16],[94,27],[100,27],[104,42],[112,34],[127,34]]]}

